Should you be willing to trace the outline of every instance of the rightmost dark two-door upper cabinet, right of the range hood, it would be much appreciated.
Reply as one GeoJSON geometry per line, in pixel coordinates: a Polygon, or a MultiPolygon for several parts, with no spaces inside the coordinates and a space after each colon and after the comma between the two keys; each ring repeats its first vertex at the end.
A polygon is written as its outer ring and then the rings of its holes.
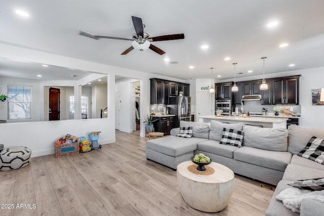
{"type": "Polygon", "coordinates": [[[272,80],[272,104],[299,104],[299,76],[272,80]]]}

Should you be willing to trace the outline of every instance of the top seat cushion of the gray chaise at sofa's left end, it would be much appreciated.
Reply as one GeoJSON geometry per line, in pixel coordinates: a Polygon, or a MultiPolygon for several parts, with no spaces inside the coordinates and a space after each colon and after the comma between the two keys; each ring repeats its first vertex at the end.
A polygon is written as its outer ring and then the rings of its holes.
{"type": "Polygon", "coordinates": [[[176,157],[184,153],[196,150],[197,143],[206,140],[207,139],[194,137],[186,139],[182,137],[168,136],[146,141],[146,148],[176,157]]]}

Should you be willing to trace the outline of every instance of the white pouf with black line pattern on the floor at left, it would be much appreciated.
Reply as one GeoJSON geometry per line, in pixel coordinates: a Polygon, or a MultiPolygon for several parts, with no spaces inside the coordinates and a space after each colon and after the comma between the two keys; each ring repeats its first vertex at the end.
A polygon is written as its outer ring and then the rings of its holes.
{"type": "Polygon", "coordinates": [[[29,164],[31,151],[28,147],[12,146],[0,152],[0,171],[18,169],[29,164]]]}

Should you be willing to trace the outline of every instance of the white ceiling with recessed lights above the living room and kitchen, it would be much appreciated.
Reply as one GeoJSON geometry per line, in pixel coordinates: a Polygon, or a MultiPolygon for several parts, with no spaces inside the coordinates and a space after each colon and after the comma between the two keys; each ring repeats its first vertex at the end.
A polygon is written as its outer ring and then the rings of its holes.
{"type": "Polygon", "coordinates": [[[234,76],[233,62],[243,73],[236,77],[262,74],[263,56],[265,73],[324,66],[323,20],[322,0],[1,1],[0,42],[180,79],[210,78],[214,67],[213,77],[228,79],[234,76]],[[29,17],[16,15],[17,9],[29,17]],[[185,38],[152,42],[163,56],[151,50],[120,55],[131,41],[78,35],[84,30],[131,38],[131,16],[142,18],[152,37],[184,33],[185,38]],[[279,24],[268,28],[273,20],[279,24]],[[284,42],[289,46],[279,48],[284,42]],[[209,49],[201,50],[205,44],[209,49]]]}

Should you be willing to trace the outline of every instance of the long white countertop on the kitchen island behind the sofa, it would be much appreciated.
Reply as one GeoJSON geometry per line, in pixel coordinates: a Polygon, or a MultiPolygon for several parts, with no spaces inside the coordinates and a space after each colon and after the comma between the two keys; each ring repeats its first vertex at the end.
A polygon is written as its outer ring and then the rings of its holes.
{"type": "Polygon", "coordinates": [[[199,115],[199,118],[209,118],[209,119],[224,119],[224,120],[235,120],[235,121],[255,121],[255,122],[269,122],[269,123],[282,123],[286,122],[288,118],[280,117],[280,118],[272,118],[270,116],[262,116],[262,117],[254,117],[250,116],[250,118],[243,117],[234,117],[234,116],[216,116],[216,115],[199,115]]]}

